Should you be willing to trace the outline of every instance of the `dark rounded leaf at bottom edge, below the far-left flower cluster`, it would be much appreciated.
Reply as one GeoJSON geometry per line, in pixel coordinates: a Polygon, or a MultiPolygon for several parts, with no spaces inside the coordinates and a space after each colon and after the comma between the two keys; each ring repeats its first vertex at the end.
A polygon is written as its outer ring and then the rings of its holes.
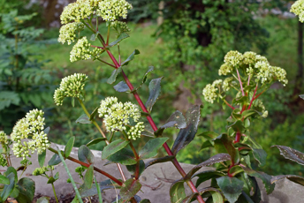
{"type": "Polygon", "coordinates": [[[35,184],[31,178],[22,177],[18,182],[19,196],[16,198],[19,203],[32,202],[34,199],[35,184]]]}

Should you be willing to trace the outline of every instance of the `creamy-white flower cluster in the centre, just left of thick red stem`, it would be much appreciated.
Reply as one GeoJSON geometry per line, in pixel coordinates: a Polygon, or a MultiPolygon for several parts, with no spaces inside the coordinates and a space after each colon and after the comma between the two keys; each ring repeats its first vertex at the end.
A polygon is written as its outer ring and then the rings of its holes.
{"type": "Polygon", "coordinates": [[[107,97],[100,104],[98,109],[99,117],[104,117],[103,123],[107,131],[125,131],[126,125],[130,124],[129,119],[133,118],[134,122],[137,122],[135,128],[133,128],[131,137],[134,139],[140,137],[143,131],[144,125],[142,122],[138,122],[141,117],[141,111],[137,105],[131,102],[118,102],[116,97],[107,97]],[[136,136],[137,135],[137,136],[136,136]]]}

